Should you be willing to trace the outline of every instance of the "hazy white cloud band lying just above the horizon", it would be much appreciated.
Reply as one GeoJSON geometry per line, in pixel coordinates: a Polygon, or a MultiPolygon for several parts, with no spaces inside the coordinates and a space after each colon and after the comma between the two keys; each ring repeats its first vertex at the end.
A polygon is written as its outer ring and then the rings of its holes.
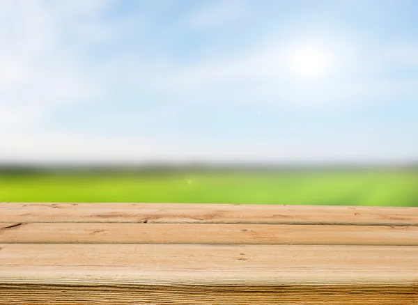
{"type": "MultiPolygon", "coordinates": [[[[418,153],[405,139],[392,139],[370,132],[362,134],[312,134],[301,139],[291,135],[276,141],[251,139],[225,141],[213,145],[206,141],[187,141],[164,136],[88,136],[56,132],[17,132],[3,134],[0,162],[40,162],[47,164],[141,164],[144,162],[404,162],[418,153]],[[396,145],[394,145],[396,144],[396,145]],[[30,153],[28,153],[30,152],[30,153]],[[261,156],[263,156],[261,158],[261,156]]],[[[411,142],[410,142],[411,143],[411,142]]]]}

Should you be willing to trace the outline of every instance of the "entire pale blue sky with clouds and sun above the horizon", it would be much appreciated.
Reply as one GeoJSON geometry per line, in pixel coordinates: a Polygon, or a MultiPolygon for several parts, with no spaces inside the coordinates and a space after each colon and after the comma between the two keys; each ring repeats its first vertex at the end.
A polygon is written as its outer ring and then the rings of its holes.
{"type": "Polygon", "coordinates": [[[418,2],[0,0],[0,162],[412,162],[418,2]]]}

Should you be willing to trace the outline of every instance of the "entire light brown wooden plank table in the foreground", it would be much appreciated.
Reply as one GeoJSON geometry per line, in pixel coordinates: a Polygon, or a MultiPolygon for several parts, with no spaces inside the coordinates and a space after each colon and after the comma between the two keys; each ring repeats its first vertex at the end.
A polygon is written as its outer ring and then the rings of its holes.
{"type": "Polygon", "coordinates": [[[0,304],[418,304],[418,208],[0,203],[0,304]]]}

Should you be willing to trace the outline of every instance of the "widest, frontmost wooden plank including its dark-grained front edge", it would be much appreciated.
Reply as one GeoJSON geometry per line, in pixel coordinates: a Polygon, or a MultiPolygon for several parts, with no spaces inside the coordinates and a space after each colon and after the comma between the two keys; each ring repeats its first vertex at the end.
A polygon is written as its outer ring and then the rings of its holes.
{"type": "Polygon", "coordinates": [[[0,304],[417,304],[418,247],[0,247],[0,304]]]}

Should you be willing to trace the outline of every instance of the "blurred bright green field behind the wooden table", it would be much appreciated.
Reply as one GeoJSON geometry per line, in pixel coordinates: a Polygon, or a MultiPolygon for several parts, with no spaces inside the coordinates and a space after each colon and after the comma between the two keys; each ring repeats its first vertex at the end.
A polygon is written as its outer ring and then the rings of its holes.
{"type": "Polygon", "coordinates": [[[418,171],[0,172],[0,201],[418,206],[418,171]]]}

